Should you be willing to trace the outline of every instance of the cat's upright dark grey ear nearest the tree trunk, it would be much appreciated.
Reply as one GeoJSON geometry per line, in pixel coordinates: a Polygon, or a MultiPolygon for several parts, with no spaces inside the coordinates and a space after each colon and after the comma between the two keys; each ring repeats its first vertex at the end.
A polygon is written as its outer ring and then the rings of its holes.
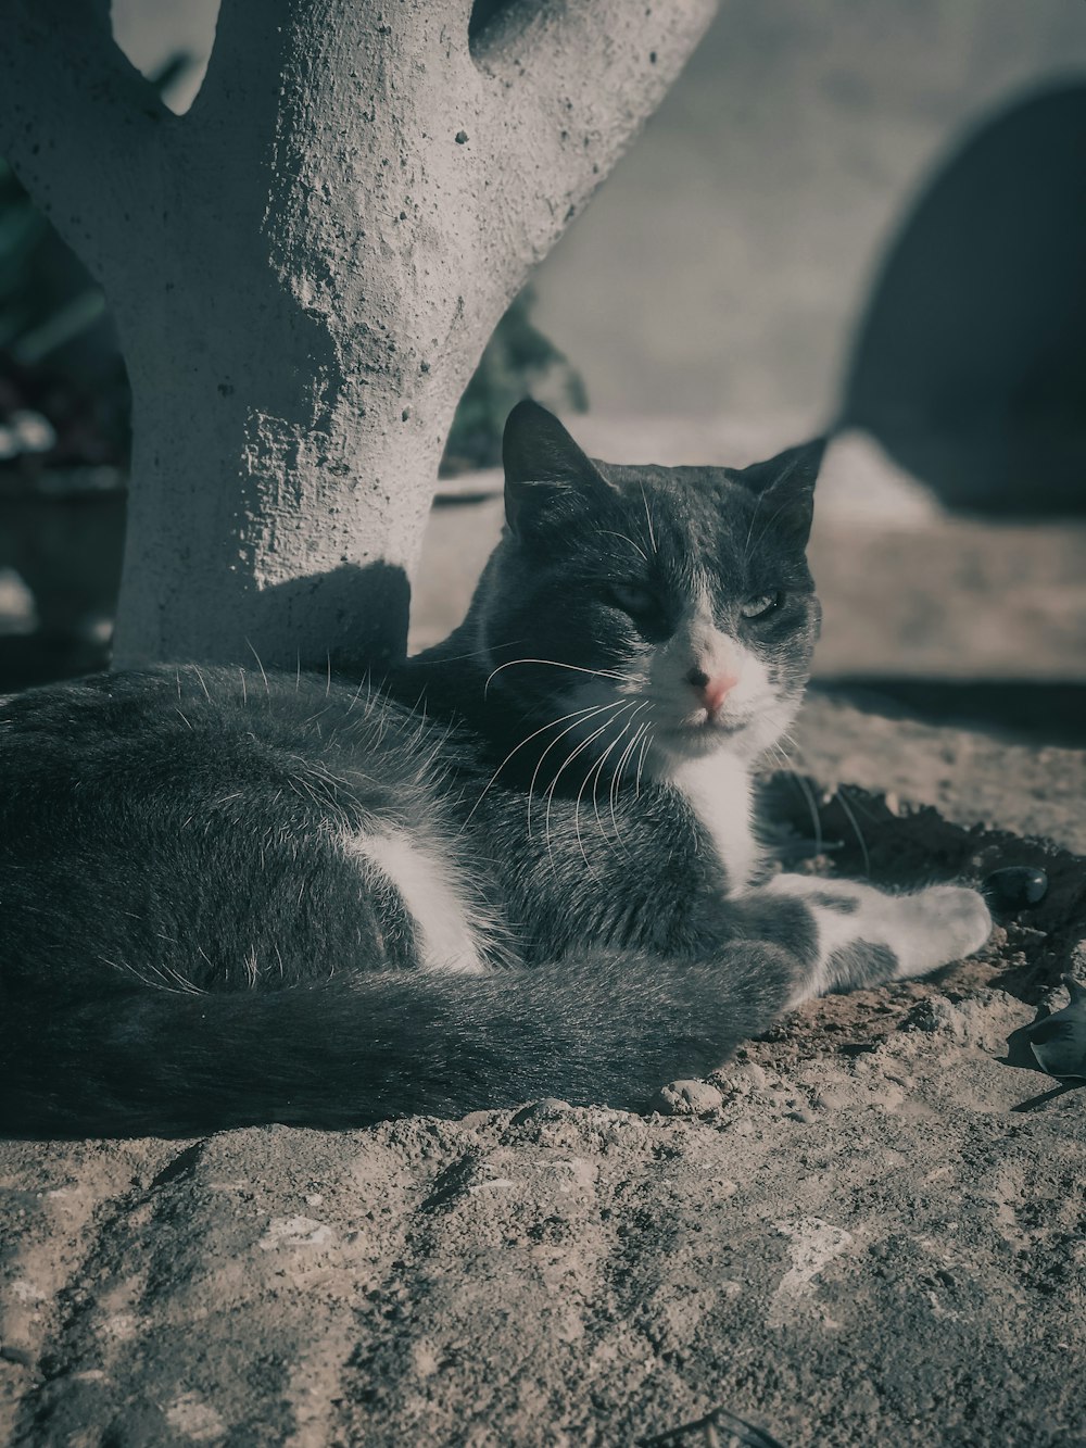
{"type": "Polygon", "coordinates": [[[505,521],[523,536],[540,521],[556,523],[585,501],[611,491],[604,475],[562,423],[539,403],[517,403],[501,440],[505,465],[505,521]]]}

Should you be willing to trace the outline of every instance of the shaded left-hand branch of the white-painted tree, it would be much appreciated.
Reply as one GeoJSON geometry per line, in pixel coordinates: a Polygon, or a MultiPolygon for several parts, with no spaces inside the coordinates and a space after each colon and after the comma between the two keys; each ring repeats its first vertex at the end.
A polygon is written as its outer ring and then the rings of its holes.
{"type": "Polygon", "coordinates": [[[0,153],[103,281],[117,229],[148,210],[172,120],[110,33],[107,0],[12,0],[0,46],[0,153]]]}

